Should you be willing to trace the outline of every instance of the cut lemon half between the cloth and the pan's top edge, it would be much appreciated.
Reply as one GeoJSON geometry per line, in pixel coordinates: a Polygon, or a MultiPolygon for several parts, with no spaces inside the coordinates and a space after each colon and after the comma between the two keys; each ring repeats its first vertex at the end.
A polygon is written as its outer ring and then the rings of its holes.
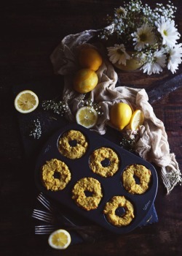
{"type": "Polygon", "coordinates": [[[76,122],[88,129],[97,124],[98,113],[92,107],[82,107],[76,112],[76,122]]]}

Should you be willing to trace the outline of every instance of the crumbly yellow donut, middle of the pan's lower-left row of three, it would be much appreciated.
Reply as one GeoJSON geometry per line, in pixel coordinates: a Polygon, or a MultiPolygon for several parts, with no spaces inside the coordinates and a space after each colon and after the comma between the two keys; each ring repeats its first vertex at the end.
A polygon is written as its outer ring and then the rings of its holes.
{"type": "Polygon", "coordinates": [[[95,178],[81,178],[74,185],[72,190],[72,199],[76,205],[86,211],[98,208],[101,198],[103,197],[100,182],[95,178]],[[92,196],[86,196],[85,192],[92,193],[92,196]]]}

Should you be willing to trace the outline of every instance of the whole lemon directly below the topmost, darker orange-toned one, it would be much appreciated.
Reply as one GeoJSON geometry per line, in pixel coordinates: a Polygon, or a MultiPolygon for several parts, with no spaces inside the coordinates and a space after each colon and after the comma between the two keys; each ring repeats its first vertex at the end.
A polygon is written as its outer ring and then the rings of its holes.
{"type": "Polygon", "coordinates": [[[74,77],[74,89],[81,94],[86,94],[98,84],[98,75],[91,69],[79,69],[74,77]]]}

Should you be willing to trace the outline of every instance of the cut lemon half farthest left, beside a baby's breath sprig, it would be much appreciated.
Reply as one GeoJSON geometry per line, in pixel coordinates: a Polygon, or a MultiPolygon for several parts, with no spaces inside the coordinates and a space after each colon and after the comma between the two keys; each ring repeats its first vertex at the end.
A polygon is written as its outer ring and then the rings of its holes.
{"type": "Polygon", "coordinates": [[[33,91],[20,91],[15,97],[15,108],[20,113],[30,113],[39,105],[39,99],[33,91]]]}

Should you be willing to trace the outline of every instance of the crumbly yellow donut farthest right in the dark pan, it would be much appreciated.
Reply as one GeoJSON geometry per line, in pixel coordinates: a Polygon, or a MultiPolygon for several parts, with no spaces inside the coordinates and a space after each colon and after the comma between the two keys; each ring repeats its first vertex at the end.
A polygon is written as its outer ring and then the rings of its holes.
{"type": "Polygon", "coordinates": [[[122,183],[124,189],[131,194],[141,195],[149,189],[151,182],[151,171],[143,165],[130,165],[122,173],[122,183]],[[134,176],[140,179],[140,184],[136,184],[134,176]]]}

